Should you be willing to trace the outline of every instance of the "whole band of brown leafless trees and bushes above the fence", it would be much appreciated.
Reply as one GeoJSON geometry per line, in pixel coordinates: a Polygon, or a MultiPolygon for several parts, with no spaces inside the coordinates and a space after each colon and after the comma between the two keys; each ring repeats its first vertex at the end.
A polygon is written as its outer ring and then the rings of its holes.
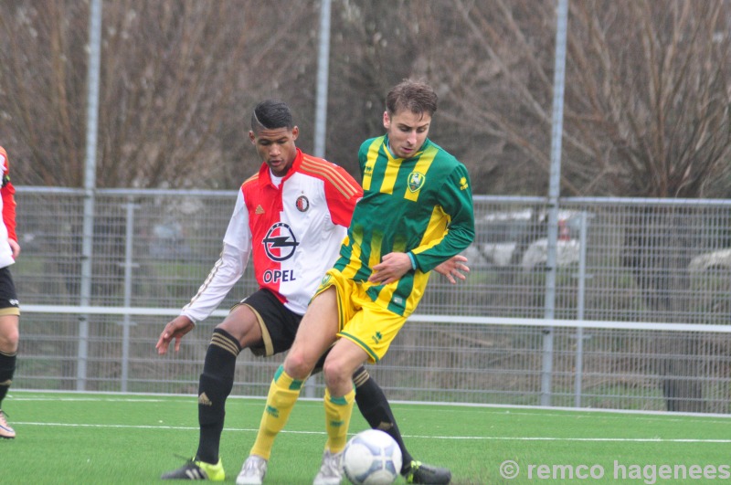
{"type": "MultiPolygon", "coordinates": [[[[319,0],[104,0],[98,187],[237,187],[257,101],[313,152],[319,0]]],[[[83,185],[88,0],[0,3],[16,185],[83,185]]],[[[731,197],[731,2],[569,0],[562,195],[731,197]]],[[[546,195],[555,0],[333,0],[325,156],[359,179],[399,80],[473,192],[546,195]]]]}

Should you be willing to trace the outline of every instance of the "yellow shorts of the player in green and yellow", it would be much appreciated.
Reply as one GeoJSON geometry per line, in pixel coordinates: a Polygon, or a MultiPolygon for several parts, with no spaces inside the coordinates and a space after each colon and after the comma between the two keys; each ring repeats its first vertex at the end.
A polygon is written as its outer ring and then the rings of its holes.
{"type": "Polygon", "coordinates": [[[365,293],[369,283],[358,283],[345,278],[338,269],[325,273],[315,296],[331,286],[337,292],[337,336],[355,343],[368,354],[368,362],[374,364],[388,351],[391,342],[406,323],[403,317],[388,311],[365,293]]]}

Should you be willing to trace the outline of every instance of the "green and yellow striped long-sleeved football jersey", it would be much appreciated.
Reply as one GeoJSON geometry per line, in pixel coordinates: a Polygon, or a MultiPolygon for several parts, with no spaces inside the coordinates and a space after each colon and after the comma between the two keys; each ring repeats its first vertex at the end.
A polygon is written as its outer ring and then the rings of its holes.
{"type": "Polygon", "coordinates": [[[335,268],[365,282],[391,252],[411,252],[417,269],[370,297],[408,315],[426,289],[429,271],[459,254],[474,238],[470,176],[454,156],[427,139],[412,158],[394,158],[387,135],[366,140],[358,152],[363,198],[355,206],[335,268]]]}

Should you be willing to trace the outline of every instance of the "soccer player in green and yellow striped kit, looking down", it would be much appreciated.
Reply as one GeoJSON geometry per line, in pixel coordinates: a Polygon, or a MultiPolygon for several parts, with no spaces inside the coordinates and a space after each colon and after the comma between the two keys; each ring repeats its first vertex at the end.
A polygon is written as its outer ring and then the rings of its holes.
{"type": "MultiPolygon", "coordinates": [[[[386,99],[386,134],[358,153],[363,198],[355,206],[340,258],[316,291],[290,353],[274,376],[257,440],[237,483],[260,483],[248,464],[268,459],[302,387],[320,356],[326,385],[327,443],[314,485],[342,479],[342,456],[355,400],[352,375],[378,362],[424,294],[429,272],[474,238],[470,177],[457,159],[427,137],[437,111],[429,85],[404,80],[386,99]]],[[[422,469],[418,462],[408,471],[422,469]]],[[[422,472],[429,470],[422,469],[422,472]]],[[[431,480],[448,483],[449,471],[431,480]]]]}

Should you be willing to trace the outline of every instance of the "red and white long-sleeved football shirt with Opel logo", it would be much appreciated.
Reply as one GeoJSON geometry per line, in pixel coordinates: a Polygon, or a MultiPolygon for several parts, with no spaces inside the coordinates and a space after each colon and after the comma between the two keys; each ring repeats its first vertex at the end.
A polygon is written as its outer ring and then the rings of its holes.
{"type": "Polygon", "coordinates": [[[260,288],[304,314],[338,257],[362,195],[342,167],[300,149],[279,185],[262,163],[259,173],[241,185],[221,258],[183,314],[193,322],[206,319],[241,278],[251,254],[260,288]]]}

